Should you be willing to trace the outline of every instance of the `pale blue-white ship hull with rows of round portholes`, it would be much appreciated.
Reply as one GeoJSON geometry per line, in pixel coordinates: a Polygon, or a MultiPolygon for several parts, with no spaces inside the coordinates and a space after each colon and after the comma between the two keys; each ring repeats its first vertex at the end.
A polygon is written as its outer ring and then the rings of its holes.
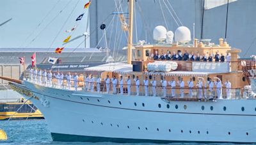
{"type": "Polygon", "coordinates": [[[255,99],[169,103],[25,84],[54,141],[256,142],[255,99]]]}

